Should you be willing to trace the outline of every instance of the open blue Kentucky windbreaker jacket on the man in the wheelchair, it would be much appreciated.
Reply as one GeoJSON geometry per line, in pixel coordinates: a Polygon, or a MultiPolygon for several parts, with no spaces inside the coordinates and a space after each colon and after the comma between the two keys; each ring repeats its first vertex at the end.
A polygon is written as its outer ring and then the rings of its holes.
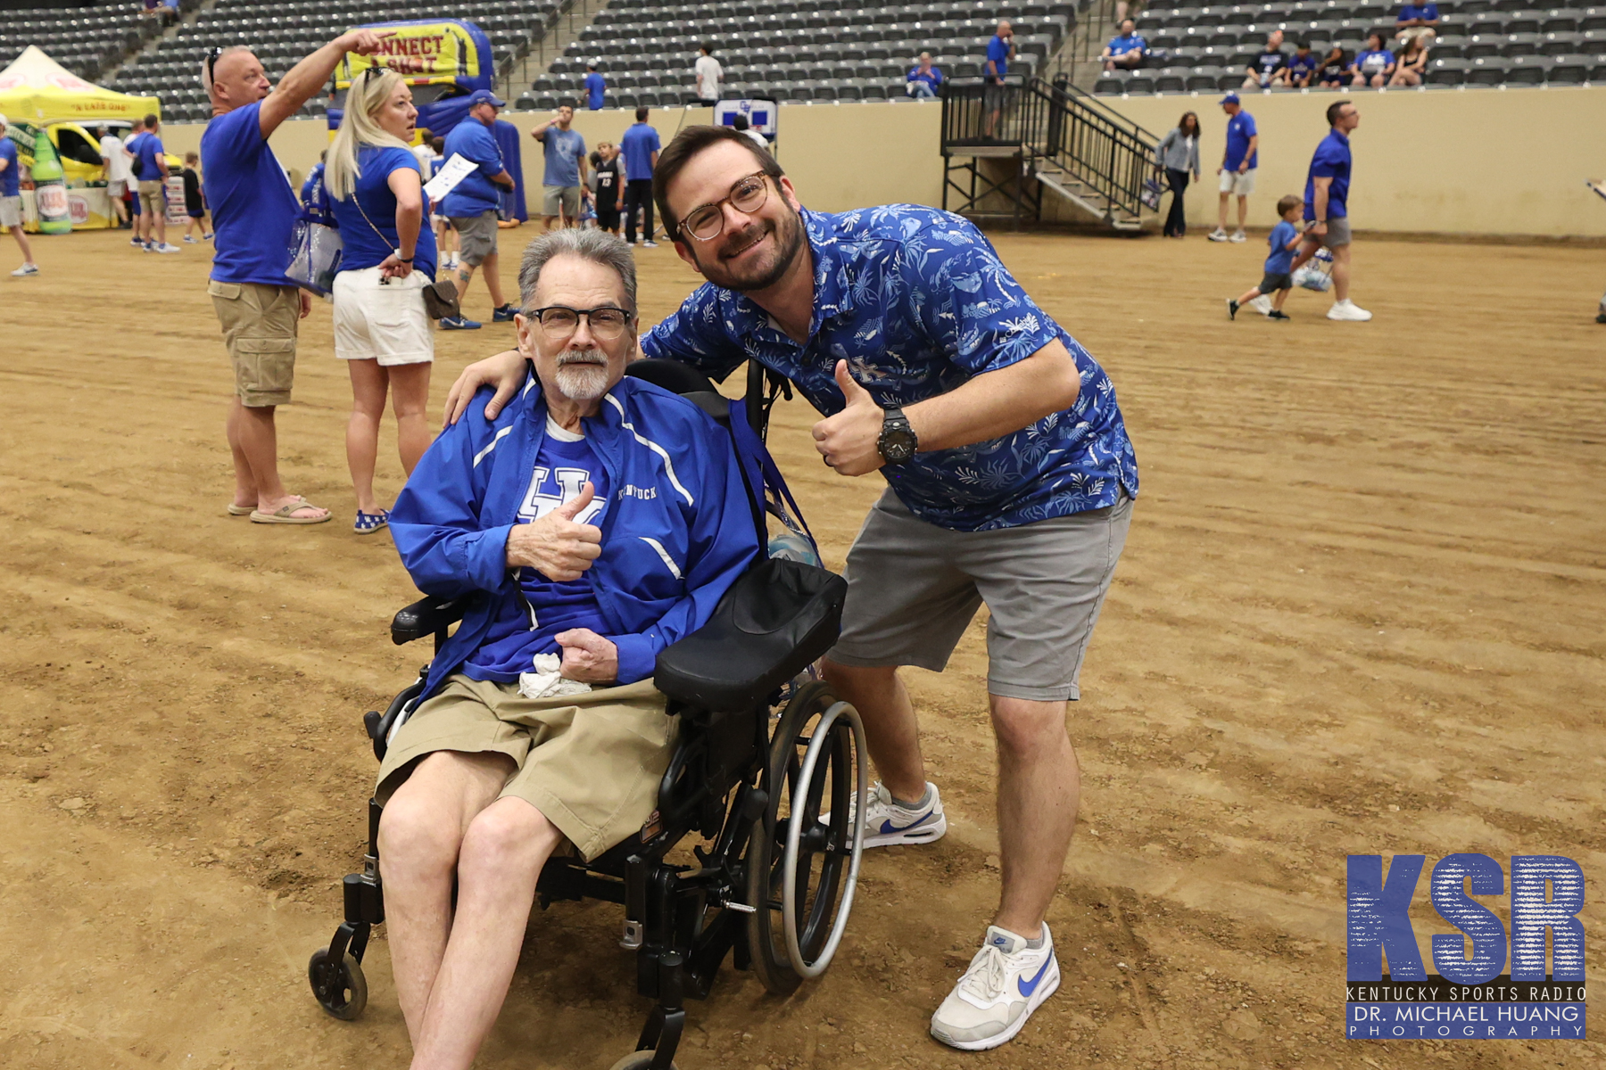
{"type": "MultiPolygon", "coordinates": [[[[533,374],[495,422],[485,420],[490,398],[480,390],[430,444],[390,513],[419,590],[485,594],[430,664],[426,696],[480,646],[499,605],[519,598],[507,533],[546,436],[546,403],[533,374]]],[[[729,433],[686,398],[626,375],[583,427],[613,497],[602,555],[585,576],[618,646],[618,682],[634,683],[652,675],[660,650],[708,621],[758,553],[758,534],[729,433]]]]}

